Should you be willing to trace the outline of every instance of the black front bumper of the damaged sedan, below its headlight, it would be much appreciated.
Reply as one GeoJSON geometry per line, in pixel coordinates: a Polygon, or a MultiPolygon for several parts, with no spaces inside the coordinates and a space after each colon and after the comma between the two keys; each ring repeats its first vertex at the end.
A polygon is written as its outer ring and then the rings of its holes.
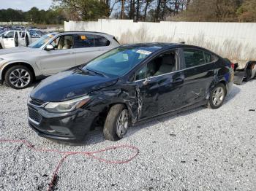
{"type": "Polygon", "coordinates": [[[37,106],[28,106],[29,126],[39,136],[60,141],[83,141],[98,116],[97,112],[86,109],[57,114],[37,106]]]}

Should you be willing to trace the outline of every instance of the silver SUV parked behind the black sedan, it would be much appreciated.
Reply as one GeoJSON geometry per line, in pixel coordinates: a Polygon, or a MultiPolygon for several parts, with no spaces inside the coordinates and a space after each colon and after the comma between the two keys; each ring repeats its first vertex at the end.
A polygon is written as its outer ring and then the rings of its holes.
{"type": "Polygon", "coordinates": [[[114,36],[103,33],[46,34],[29,47],[0,50],[0,82],[23,89],[35,79],[79,66],[117,46],[114,36]]]}

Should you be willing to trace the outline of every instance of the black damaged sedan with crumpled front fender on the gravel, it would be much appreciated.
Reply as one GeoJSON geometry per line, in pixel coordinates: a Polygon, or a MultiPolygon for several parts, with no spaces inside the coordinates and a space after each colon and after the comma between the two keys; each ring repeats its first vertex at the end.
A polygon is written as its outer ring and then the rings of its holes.
{"type": "Polygon", "coordinates": [[[232,85],[233,64],[201,47],[124,45],[39,83],[29,96],[29,126],[46,138],[82,141],[104,124],[105,139],[117,141],[142,120],[217,109],[232,85]]]}

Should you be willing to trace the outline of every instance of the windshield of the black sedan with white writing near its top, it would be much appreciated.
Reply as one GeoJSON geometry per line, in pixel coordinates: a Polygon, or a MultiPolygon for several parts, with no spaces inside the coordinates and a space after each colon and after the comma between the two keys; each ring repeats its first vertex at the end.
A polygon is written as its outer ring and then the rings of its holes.
{"type": "Polygon", "coordinates": [[[118,47],[90,61],[83,70],[120,77],[160,47],[118,47]]]}

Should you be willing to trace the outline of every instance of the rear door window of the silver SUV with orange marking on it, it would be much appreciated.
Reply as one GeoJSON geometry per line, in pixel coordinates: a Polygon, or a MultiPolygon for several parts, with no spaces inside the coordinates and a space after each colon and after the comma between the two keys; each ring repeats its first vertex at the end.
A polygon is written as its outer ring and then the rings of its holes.
{"type": "Polygon", "coordinates": [[[94,47],[94,36],[91,34],[75,35],[74,48],[94,47]]]}

